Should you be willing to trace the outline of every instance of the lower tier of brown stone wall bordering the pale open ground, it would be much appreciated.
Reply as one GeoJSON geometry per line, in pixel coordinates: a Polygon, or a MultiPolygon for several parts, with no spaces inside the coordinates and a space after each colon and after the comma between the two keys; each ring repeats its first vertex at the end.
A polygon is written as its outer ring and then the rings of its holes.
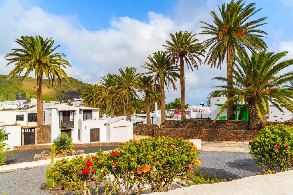
{"type": "Polygon", "coordinates": [[[156,128],[154,137],[164,136],[177,139],[201,139],[202,141],[251,141],[259,131],[249,130],[210,130],[186,128],[156,128]]]}

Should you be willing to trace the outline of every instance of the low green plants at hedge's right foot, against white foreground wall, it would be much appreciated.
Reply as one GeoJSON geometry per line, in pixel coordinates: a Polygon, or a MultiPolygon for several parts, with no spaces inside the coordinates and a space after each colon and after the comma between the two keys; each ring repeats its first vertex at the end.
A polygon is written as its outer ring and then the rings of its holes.
{"type": "Polygon", "coordinates": [[[188,179],[190,179],[194,184],[214,184],[223,181],[223,179],[218,178],[217,175],[202,173],[199,170],[191,172],[188,175],[188,179]]]}

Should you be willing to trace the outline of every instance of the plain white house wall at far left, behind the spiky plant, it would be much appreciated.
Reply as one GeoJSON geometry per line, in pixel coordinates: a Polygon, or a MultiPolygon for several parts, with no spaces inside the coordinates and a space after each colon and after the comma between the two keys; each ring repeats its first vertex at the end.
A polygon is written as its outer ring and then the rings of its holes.
{"type": "MultiPolygon", "coordinates": [[[[4,122],[5,123],[5,122],[4,122]]],[[[7,141],[3,141],[3,143],[7,143],[8,146],[21,146],[21,125],[17,125],[15,123],[9,123],[6,122],[6,125],[4,123],[0,123],[0,128],[4,127],[8,136],[7,141]]]]}

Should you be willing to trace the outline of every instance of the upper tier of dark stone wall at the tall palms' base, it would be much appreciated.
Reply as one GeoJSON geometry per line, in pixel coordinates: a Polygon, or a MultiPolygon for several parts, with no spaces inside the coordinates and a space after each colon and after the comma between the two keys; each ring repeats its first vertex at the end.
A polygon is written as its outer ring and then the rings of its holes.
{"type": "Polygon", "coordinates": [[[248,130],[248,121],[241,120],[166,120],[165,128],[214,129],[214,130],[248,130]]]}

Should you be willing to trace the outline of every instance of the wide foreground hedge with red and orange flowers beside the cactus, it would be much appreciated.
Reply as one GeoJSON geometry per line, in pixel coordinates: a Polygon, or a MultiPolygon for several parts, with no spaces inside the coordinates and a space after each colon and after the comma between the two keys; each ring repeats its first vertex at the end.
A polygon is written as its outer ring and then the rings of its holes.
{"type": "Polygon", "coordinates": [[[200,165],[195,145],[184,139],[165,137],[130,140],[122,148],[95,156],[74,157],[71,161],[57,161],[51,177],[63,189],[77,194],[90,194],[91,185],[102,182],[103,194],[130,194],[134,189],[141,193],[146,185],[152,191],[170,190],[175,177],[188,175],[200,165]]]}

